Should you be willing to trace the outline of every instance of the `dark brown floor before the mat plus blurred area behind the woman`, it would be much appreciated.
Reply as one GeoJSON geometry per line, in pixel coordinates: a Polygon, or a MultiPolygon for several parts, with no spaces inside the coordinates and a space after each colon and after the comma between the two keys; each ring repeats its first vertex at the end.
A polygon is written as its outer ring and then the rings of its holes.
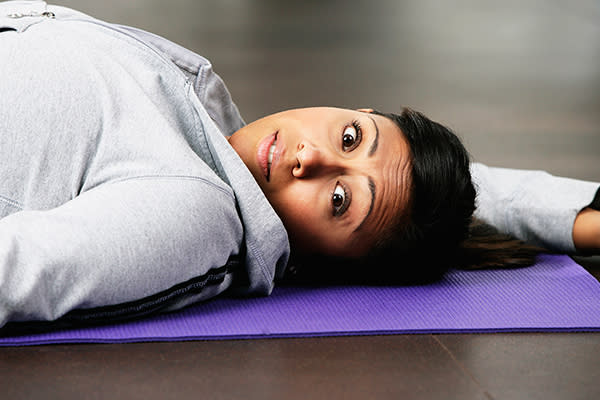
{"type": "MultiPolygon", "coordinates": [[[[71,0],[211,59],[246,120],[290,107],[445,122],[476,160],[600,180],[600,5],[71,0]]],[[[600,262],[577,259],[600,277],[600,262]]],[[[598,399],[600,334],[0,349],[0,397],[598,399]]]]}

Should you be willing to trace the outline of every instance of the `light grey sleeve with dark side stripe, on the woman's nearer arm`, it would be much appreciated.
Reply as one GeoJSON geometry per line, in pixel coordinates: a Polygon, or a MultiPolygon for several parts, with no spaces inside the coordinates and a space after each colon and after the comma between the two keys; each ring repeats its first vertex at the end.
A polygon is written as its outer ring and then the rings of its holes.
{"type": "Polygon", "coordinates": [[[146,303],[154,312],[216,296],[242,237],[233,195],[201,179],[120,181],[11,214],[0,219],[0,327],[74,309],[128,318],[146,303]]]}

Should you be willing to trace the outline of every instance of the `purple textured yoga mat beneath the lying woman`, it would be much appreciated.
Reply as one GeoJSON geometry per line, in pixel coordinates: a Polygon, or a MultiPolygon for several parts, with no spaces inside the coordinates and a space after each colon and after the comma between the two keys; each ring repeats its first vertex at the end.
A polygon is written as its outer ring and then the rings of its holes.
{"type": "Polygon", "coordinates": [[[453,271],[413,287],[276,288],[109,326],[0,338],[0,346],[402,333],[600,331],[600,283],[567,256],[453,271]]]}

